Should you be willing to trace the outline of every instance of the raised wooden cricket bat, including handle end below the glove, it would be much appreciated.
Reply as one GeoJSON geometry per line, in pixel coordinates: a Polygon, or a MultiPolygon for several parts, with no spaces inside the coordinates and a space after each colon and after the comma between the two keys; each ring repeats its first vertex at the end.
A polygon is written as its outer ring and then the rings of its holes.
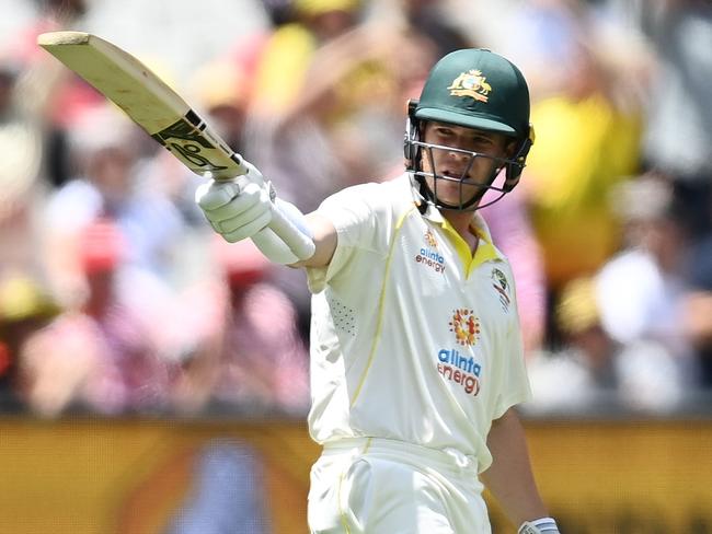
{"type": "MultiPolygon", "coordinates": [[[[49,32],[37,44],[74,71],[195,174],[230,181],[246,174],[243,158],[163,80],[127,51],[84,32],[49,32]]],[[[299,259],[314,244],[278,210],[269,228],[299,259]]]]}

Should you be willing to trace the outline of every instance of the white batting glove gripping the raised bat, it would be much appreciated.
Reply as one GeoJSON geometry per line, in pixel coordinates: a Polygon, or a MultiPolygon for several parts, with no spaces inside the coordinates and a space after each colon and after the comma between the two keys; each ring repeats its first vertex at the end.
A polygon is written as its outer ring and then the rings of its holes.
{"type": "Polygon", "coordinates": [[[195,201],[213,229],[230,243],[252,237],[272,222],[271,185],[253,165],[245,164],[249,171],[239,179],[211,179],[195,191],[195,201]]]}

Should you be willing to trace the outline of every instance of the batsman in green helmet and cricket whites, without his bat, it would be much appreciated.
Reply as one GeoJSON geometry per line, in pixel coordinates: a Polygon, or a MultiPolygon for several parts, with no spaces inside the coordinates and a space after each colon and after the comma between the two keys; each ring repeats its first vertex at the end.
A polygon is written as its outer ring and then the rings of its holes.
{"type": "Polygon", "coordinates": [[[196,201],[228,242],[305,267],[312,292],[310,532],[491,533],[486,486],[519,534],[559,533],[515,406],[530,396],[512,269],[478,209],[518,183],[533,142],[521,72],[484,49],[432,69],[409,109],[405,173],[312,213],[253,166],[196,201]],[[299,260],[268,227],[315,245],[299,260]]]}

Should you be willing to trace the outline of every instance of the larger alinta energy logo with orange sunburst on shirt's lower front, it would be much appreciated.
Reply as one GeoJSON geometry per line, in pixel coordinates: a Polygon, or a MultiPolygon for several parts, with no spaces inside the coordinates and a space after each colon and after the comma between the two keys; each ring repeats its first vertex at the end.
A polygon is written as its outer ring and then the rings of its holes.
{"type": "MultiPolygon", "coordinates": [[[[480,320],[472,310],[453,310],[448,325],[455,334],[456,343],[461,347],[472,347],[480,339],[480,320]]],[[[480,393],[482,365],[471,353],[462,353],[457,348],[440,349],[437,353],[437,371],[445,380],[462,386],[468,395],[476,396],[480,393]]]]}

